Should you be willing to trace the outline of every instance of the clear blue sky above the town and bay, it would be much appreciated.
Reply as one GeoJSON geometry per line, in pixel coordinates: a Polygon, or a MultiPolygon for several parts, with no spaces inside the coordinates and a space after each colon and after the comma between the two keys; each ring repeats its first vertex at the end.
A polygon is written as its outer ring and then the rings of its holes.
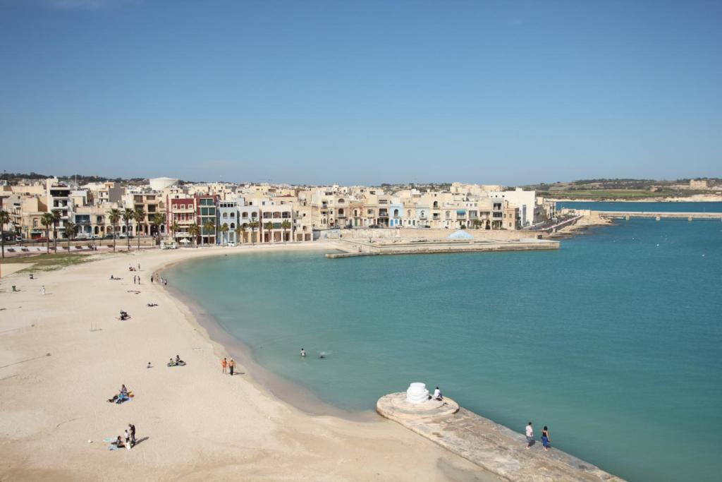
{"type": "Polygon", "coordinates": [[[722,1],[0,0],[0,168],[722,177],[722,1]]]}

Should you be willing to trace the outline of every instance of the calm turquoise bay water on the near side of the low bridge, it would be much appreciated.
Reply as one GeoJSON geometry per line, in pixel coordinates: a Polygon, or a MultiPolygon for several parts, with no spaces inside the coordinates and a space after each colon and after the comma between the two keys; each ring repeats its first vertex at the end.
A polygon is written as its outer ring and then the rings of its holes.
{"type": "Polygon", "coordinates": [[[547,252],[257,253],[168,277],[258,363],[341,408],[438,384],[630,480],[720,478],[718,221],[624,221],[547,252]]]}

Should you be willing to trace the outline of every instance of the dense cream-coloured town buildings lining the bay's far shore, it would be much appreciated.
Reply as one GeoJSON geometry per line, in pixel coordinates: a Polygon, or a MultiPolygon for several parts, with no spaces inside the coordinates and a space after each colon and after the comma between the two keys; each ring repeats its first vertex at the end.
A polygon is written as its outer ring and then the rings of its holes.
{"type": "MultiPolygon", "coordinates": [[[[71,188],[57,178],[2,186],[0,198],[22,238],[45,237],[42,217],[58,212],[78,225],[79,238],[113,233],[108,212],[142,210],[140,222],[122,220],[116,235],[168,237],[181,244],[313,241],[324,231],[365,228],[508,230],[531,228],[554,216],[553,202],[534,191],[453,183],[445,190],[374,186],[182,183],[152,178],[71,188]],[[157,217],[162,219],[157,223],[157,217]],[[195,225],[196,228],[191,228],[195,225]],[[196,230],[196,234],[193,234],[196,230]]],[[[52,229],[50,231],[53,231],[52,229]]],[[[351,232],[352,233],[352,232],[351,232]]],[[[351,236],[348,233],[344,236],[351,236]]],[[[50,233],[52,238],[53,233],[50,233]]]]}

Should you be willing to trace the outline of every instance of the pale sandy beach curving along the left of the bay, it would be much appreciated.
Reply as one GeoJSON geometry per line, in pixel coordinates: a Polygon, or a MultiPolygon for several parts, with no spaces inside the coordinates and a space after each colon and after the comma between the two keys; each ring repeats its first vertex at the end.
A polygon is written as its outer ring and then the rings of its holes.
{"type": "Polygon", "coordinates": [[[252,367],[222,374],[225,348],[187,306],[149,282],[155,270],[185,259],[319,247],[149,249],[98,254],[35,280],[20,272],[3,277],[0,479],[498,480],[383,418],[311,416],[270,395],[252,367]],[[129,264],[141,271],[129,272],[129,264]],[[119,321],[121,309],[131,319],[119,321]],[[176,354],[188,364],[168,368],[176,354]],[[133,400],[108,403],[121,384],[133,400]],[[128,423],[138,444],[110,451],[103,440],[122,435],[128,423]]]}

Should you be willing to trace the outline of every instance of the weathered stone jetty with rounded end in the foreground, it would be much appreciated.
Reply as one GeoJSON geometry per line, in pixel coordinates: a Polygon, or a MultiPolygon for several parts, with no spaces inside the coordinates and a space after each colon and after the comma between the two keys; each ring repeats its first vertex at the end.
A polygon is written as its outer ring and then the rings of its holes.
{"type": "Polygon", "coordinates": [[[448,397],[418,404],[407,402],[406,392],[391,393],[378,400],[376,411],[509,481],[623,481],[560,450],[544,452],[541,442],[526,449],[525,436],[448,397]]]}

